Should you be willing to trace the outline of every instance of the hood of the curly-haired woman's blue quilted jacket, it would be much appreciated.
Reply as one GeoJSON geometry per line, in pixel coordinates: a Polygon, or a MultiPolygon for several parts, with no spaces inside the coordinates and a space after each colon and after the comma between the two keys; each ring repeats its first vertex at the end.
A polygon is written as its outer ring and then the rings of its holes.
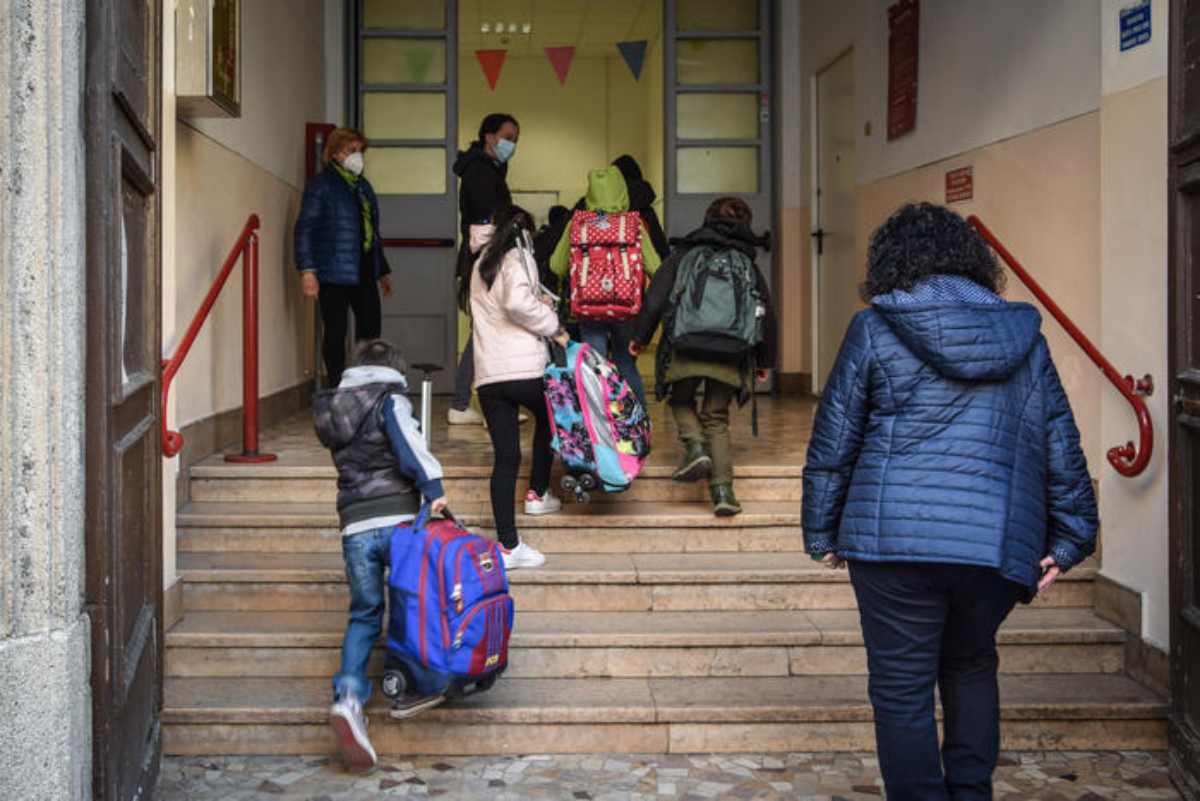
{"type": "Polygon", "coordinates": [[[914,356],[955,380],[1004,380],[1040,338],[1036,308],[1006,302],[960,277],[934,276],[908,291],[880,295],[871,306],[914,356]]]}

